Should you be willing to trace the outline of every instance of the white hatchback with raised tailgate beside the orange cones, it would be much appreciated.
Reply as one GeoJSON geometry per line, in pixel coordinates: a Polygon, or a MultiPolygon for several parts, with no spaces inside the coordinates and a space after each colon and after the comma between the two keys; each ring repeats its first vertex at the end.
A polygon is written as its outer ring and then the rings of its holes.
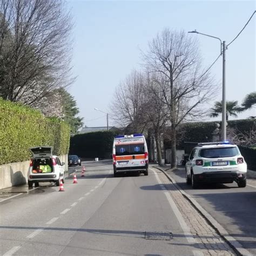
{"type": "Polygon", "coordinates": [[[60,180],[65,181],[64,168],[65,163],[60,163],[57,156],[52,156],[52,147],[32,147],[33,157],[30,160],[28,171],[28,185],[38,186],[39,182],[54,182],[56,186],[60,185],[60,180]]]}

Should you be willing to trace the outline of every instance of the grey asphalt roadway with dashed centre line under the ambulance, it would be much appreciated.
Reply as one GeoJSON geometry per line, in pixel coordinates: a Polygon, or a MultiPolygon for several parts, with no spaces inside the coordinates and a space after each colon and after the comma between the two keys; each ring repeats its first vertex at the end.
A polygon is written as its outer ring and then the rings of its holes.
{"type": "Polygon", "coordinates": [[[0,202],[1,255],[202,255],[160,171],[113,178],[111,163],[85,166],[64,192],[42,184],[0,202]]]}

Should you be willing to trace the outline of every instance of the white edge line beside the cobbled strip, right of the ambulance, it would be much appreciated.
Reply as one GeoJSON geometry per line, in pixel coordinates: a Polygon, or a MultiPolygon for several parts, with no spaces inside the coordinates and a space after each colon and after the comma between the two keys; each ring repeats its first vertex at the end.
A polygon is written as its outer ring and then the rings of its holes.
{"type": "MultiPolygon", "coordinates": [[[[159,179],[158,174],[154,170],[153,170],[153,172],[154,172],[154,175],[156,176],[156,179],[157,179],[158,183],[161,184],[161,180],[159,179]]],[[[196,239],[194,239],[192,237],[192,234],[190,232],[190,228],[185,223],[183,215],[181,215],[177,205],[174,203],[172,197],[170,196],[170,193],[167,192],[167,191],[164,191],[164,194],[165,194],[167,200],[169,201],[169,204],[170,204],[174,214],[176,215],[177,220],[179,221],[179,224],[180,224],[180,226],[181,226],[181,228],[182,228],[182,230],[183,230],[183,232],[185,234],[185,237],[186,237],[187,241],[190,244],[196,244],[197,243],[196,239]]]]}

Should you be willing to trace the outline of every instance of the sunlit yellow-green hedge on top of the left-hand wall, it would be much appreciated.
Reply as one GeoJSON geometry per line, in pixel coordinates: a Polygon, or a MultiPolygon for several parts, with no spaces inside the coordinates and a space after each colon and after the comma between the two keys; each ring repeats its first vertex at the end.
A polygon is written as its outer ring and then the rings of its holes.
{"type": "Polygon", "coordinates": [[[0,99],[0,164],[28,160],[33,146],[52,146],[53,154],[67,154],[69,141],[70,127],[62,120],[0,99]]]}

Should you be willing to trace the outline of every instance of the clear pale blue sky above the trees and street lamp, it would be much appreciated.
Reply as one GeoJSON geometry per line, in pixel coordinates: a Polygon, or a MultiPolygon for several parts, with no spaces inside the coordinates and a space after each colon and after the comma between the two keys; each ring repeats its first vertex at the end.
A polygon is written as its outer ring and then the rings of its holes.
{"type": "MultiPolygon", "coordinates": [[[[106,126],[115,87],[132,69],[139,69],[140,50],[166,27],[207,33],[230,43],[253,11],[254,1],[76,1],[68,0],[75,22],[73,73],[69,92],[77,101],[86,126],[106,126]],[[92,120],[97,119],[97,120],[92,120]]],[[[256,15],[226,51],[226,98],[242,99],[256,90],[256,15]]],[[[205,67],[220,53],[219,41],[199,39],[205,67]]],[[[221,58],[211,69],[221,83],[221,58]]],[[[212,99],[221,100],[219,96],[212,99]]],[[[211,106],[211,105],[210,105],[211,106]]],[[[256,110],[239,118],[256,115],[256,110]]],[[[218,118],[219,120],[221,119],[218,118]]],[[[110,119],[110,125],[114,125],[110,119]]]]}

